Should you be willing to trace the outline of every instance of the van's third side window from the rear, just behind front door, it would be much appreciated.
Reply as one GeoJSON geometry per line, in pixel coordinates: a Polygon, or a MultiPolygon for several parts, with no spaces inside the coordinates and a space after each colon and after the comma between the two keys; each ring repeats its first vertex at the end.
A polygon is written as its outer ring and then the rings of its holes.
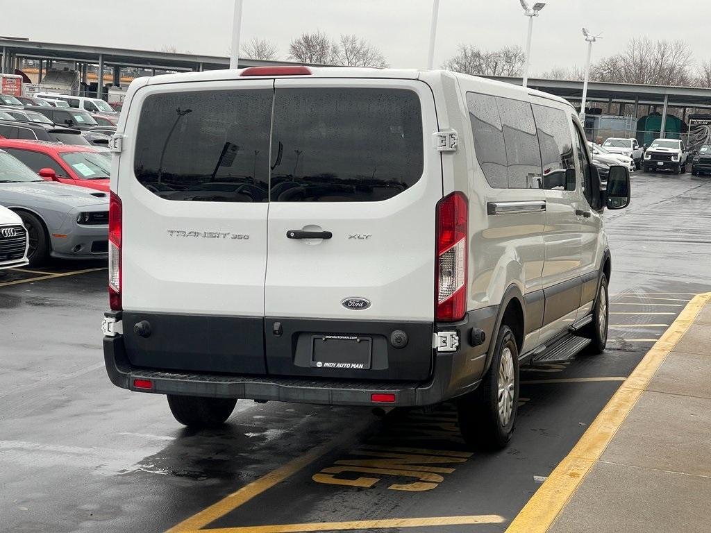
{"type": "Polygon", "coordinates": [[[533,104],[533,116],[538,128],[538,142],[543,163],[543,188],[575,190],[568,169],[574,169],[574,154],[570,125],[561,109],[533,104]]]}

